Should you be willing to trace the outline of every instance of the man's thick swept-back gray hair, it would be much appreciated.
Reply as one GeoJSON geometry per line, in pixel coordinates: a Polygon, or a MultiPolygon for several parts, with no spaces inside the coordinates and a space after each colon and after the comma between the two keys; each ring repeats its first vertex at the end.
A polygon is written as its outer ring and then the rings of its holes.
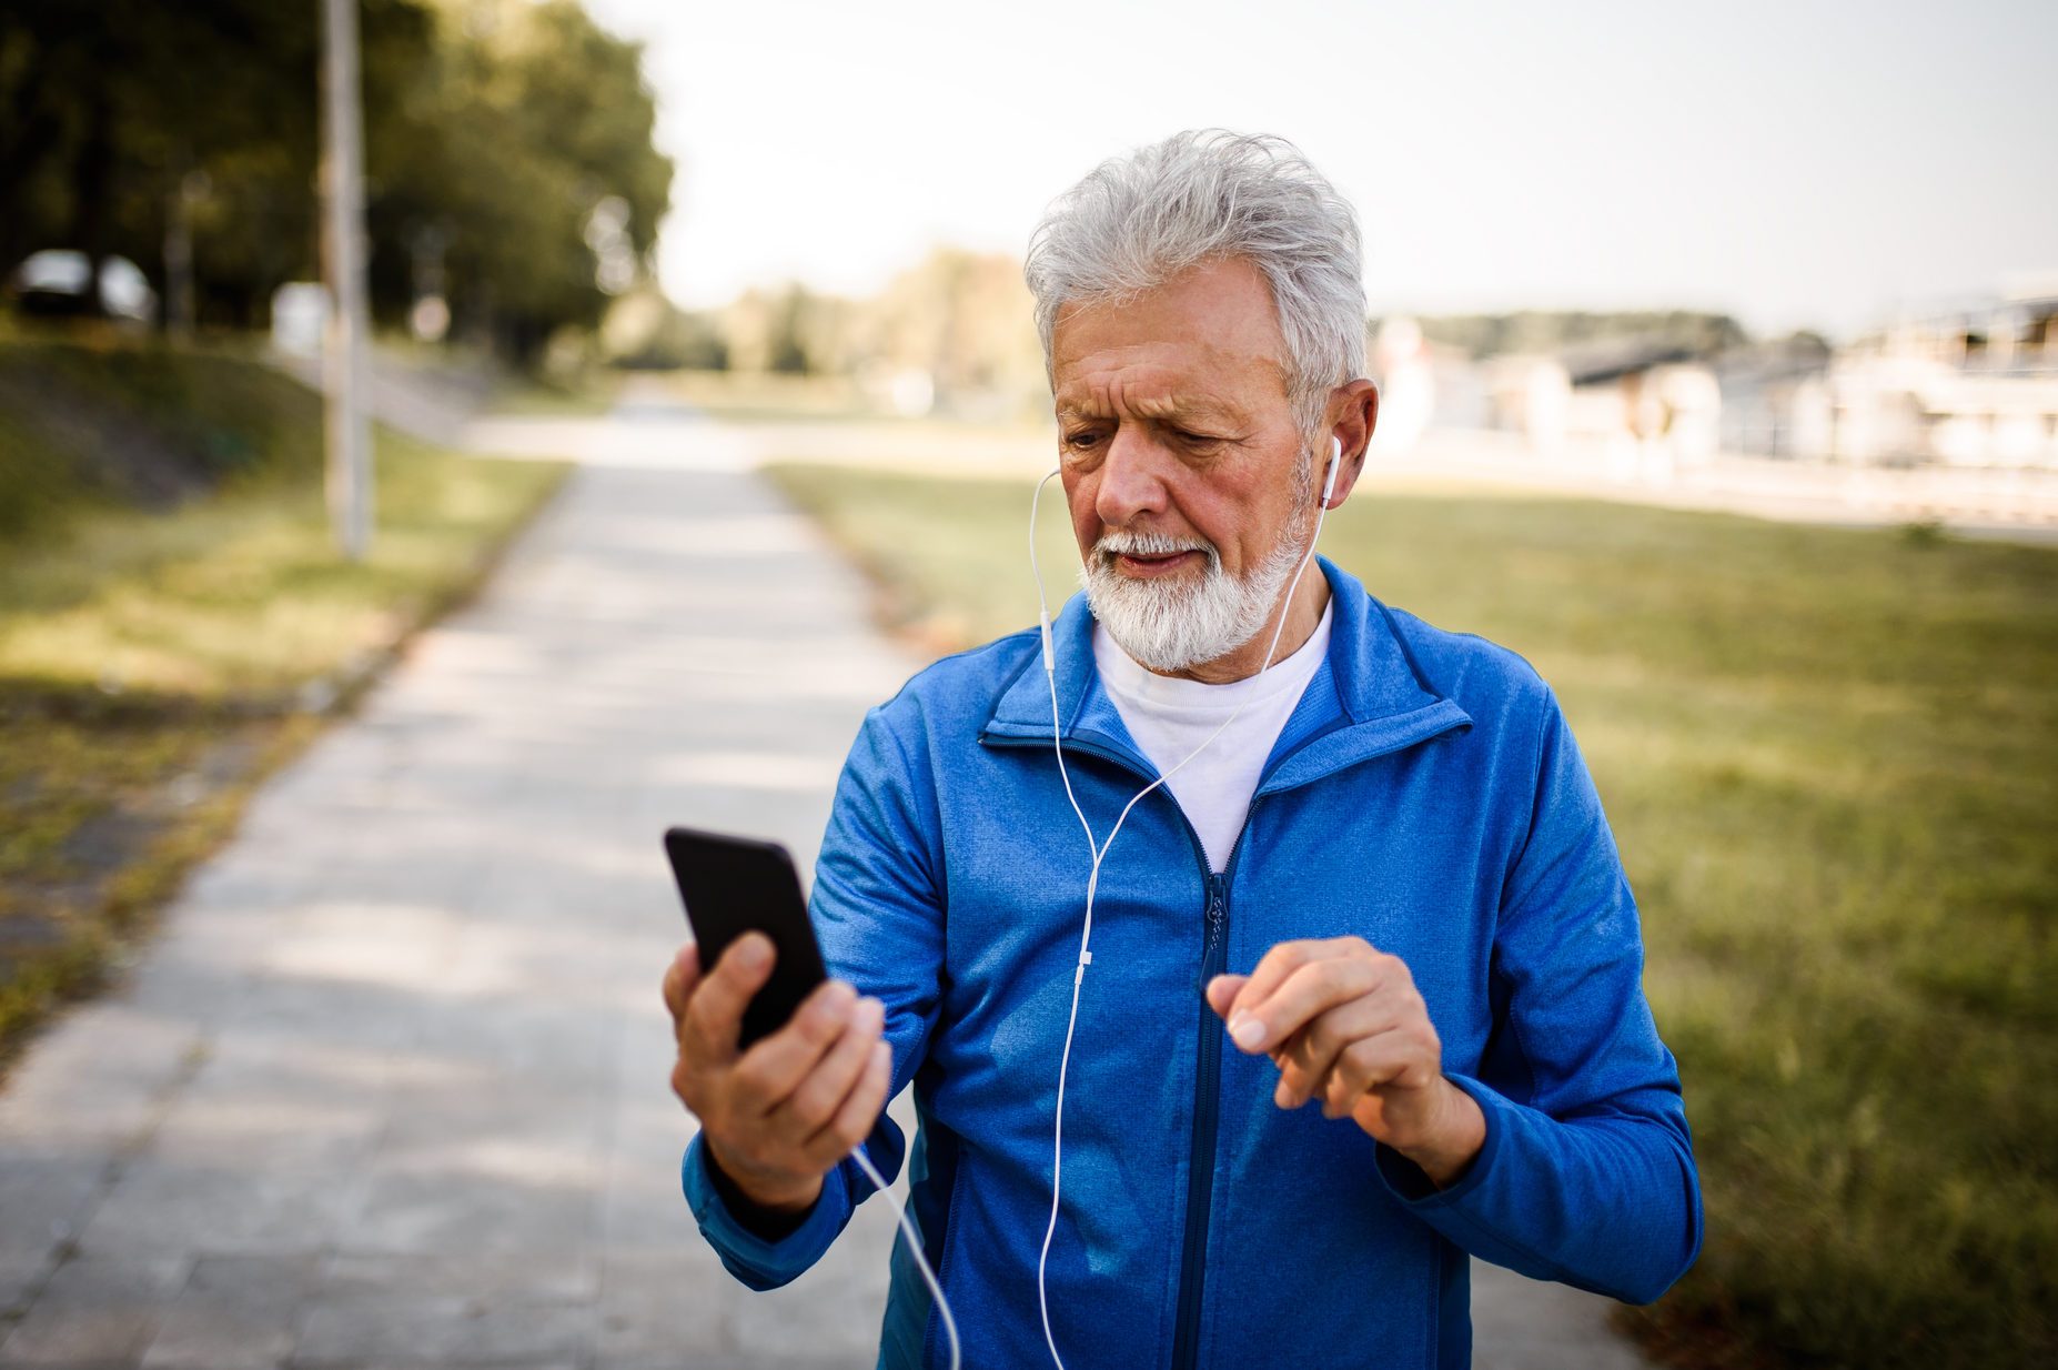
{"type": "Polygon", "coordinates": [[[1364,372],[1358,216],[1284,138],[1187,130],[1095,167],[1029,239],[1043,372],[1070,302],[1120,300],[1190,265],[1245,257],[1272,286],[1286,339],[1286,401],[1303,432],[1329,391],[1364,372]]]}

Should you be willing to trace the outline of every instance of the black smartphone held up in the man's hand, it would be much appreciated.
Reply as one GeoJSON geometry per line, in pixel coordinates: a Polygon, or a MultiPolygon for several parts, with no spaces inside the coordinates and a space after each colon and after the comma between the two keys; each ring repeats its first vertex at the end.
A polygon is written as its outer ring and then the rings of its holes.
{"type": "Polygon", "coordinates": [[[807,922],[801,874],[792,856],[776,841],[702,833],[691,827],[665,829],[665,856],[694,926],[702,971],[714,969],[745,932],[772,938],[778,959],[772,979],[743,1010],[739,1047],[776,1033],[801,1008],[801,1000],[829,977],[821,965],[815,926],[807,922]]]}

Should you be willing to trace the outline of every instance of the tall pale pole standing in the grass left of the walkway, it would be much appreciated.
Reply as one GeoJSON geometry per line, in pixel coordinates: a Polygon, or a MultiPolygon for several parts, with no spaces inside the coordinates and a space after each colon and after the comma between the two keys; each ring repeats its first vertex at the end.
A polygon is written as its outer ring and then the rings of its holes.
{"type": "Polygon", "coordinates": [[[372,434],[364,416],[364,109],[358,82],[358,0],[321,0],[321,272],[329,286],[321,376],[327,395],[329,525],[344,555],[362,562],[372,537],[372,434]]]}

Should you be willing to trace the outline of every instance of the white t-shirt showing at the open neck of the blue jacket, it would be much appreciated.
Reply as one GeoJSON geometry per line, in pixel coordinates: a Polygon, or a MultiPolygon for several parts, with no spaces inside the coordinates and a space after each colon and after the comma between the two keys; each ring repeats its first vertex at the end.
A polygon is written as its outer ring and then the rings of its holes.
{"type": "Polygon", "coordinates": [[[1105,625],[1093,625],[1093,660],[1101,669],[1101,685],[1107,687],[1124,726],[1144,749],[1159,776],[1206,743],[1222,726],[1222,720],[1237,712],[1245,695],[1255,691],[1229,732],[1214,738],[1206,751],[1165,782],[1165,788],[1179,800],[1187,823],[1200,833],[1200,845],[1208,850],[1210,870],[1229,866],[1237,833],[1243,831],[1243,819],[1251,810],[1257,773],[1264,769],[1266,757],[1272,755],[1272,745],[1278,743],[1280,728],[1292,716],[1307,683],[1315,679],[1315,671],[1329,654],[1332,607],[1334,601],[1323,607],[1321,623],[1301,644],[1301,650],[1274,662],[1264,675],[1229,685],[1152,675],[1107,636],[1105,625]]]}

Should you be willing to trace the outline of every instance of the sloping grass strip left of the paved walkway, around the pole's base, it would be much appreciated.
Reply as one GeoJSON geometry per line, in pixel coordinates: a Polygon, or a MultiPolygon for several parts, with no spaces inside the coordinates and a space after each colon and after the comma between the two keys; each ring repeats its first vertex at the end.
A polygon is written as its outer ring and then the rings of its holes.
{"type": "Polygon", "coordinates": [[[228,352],[0,339],[0,1057],[99,983],[257,780],[556,490],[377,432],[333,549],[321,403],[228,352]]]}

